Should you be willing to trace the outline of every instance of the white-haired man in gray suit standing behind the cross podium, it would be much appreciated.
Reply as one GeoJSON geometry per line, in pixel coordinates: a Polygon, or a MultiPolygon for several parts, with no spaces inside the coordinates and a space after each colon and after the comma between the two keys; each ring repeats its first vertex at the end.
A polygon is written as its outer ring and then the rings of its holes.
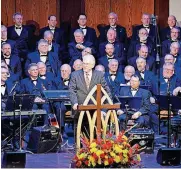
{"type": "MultiPolygon", "coordinates": [[[[104,74],[100,71],[93,70],[95,66],[95,58],[94,56],[88,54],[83,57],[83,70],[78,70],[72,72],[71,79],[69,82],[69,91],[70,91],[70,101],[74,111],[77,110],[77,106],[84,103],[89,92],[92,88],[101,84],[102,87],[107,91],[108,95],[111,97],[111,92],[104,78],[104,74]]],[[[92,113],[91,113],[92,114],[92,113]]],[[[74,131],[76,131],[77,120],[79,117],[79,113],[76,112],[74,116],[74,131]]],[[[84,132],[85,128],[88,131],[88,123],[87,118],[84,116],[83,119],[84,127],[82,128],[82,132],[84,132]]],[[[87,134],[85,131],[85,134],[87,134]]]]}

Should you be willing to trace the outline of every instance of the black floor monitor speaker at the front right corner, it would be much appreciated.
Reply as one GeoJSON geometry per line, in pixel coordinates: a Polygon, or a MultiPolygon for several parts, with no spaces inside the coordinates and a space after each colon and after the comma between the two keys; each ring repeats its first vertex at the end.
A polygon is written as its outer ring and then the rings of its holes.
{"type": "Polygon", "coordinates": [[[160,148],[157,153],[157,163],[161,165],[180,165],[180,148],[160,148]]]}

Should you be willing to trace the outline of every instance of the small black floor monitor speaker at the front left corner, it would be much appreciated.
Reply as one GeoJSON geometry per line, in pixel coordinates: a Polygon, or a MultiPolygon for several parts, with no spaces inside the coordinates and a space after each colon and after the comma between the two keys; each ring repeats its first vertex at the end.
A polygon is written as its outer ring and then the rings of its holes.
{"type": "Polygon", "coordinates": [[[4,152],[2,168],[25,168],[25,152],[4,152]]]}

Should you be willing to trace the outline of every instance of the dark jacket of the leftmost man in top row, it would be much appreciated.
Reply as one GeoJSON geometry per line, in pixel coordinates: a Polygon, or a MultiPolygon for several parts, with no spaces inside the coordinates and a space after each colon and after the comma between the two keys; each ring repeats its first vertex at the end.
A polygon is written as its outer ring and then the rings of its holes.
{"type": "Polygon", "coordinates": [[[22,58],[26,58],[26,55],[29,50],[29,32],[28,29],[25,26],[22,26],[22,32],[20,36],[15,31],[15,26],[10,26],[7,29],[8,32],[8,39],[16,41],[17,49],[19,52],[19,56],[22,58]]]}

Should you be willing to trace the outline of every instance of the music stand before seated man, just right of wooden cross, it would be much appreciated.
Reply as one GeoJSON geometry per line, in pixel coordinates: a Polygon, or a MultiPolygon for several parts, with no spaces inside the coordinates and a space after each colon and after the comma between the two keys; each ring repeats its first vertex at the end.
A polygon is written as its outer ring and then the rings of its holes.
{"type": "MultiPolygon", "coordinates": [[[[126,112],[126,125],[128,121],[128,111],[139,111],[142,104],[141,97],[130,97],[130,96],[118,96],[117,97],[121,103],[121,109],[124,109],[126,112]]],[[[131,112],[130,112],[131,113],[131,112]]]]}

